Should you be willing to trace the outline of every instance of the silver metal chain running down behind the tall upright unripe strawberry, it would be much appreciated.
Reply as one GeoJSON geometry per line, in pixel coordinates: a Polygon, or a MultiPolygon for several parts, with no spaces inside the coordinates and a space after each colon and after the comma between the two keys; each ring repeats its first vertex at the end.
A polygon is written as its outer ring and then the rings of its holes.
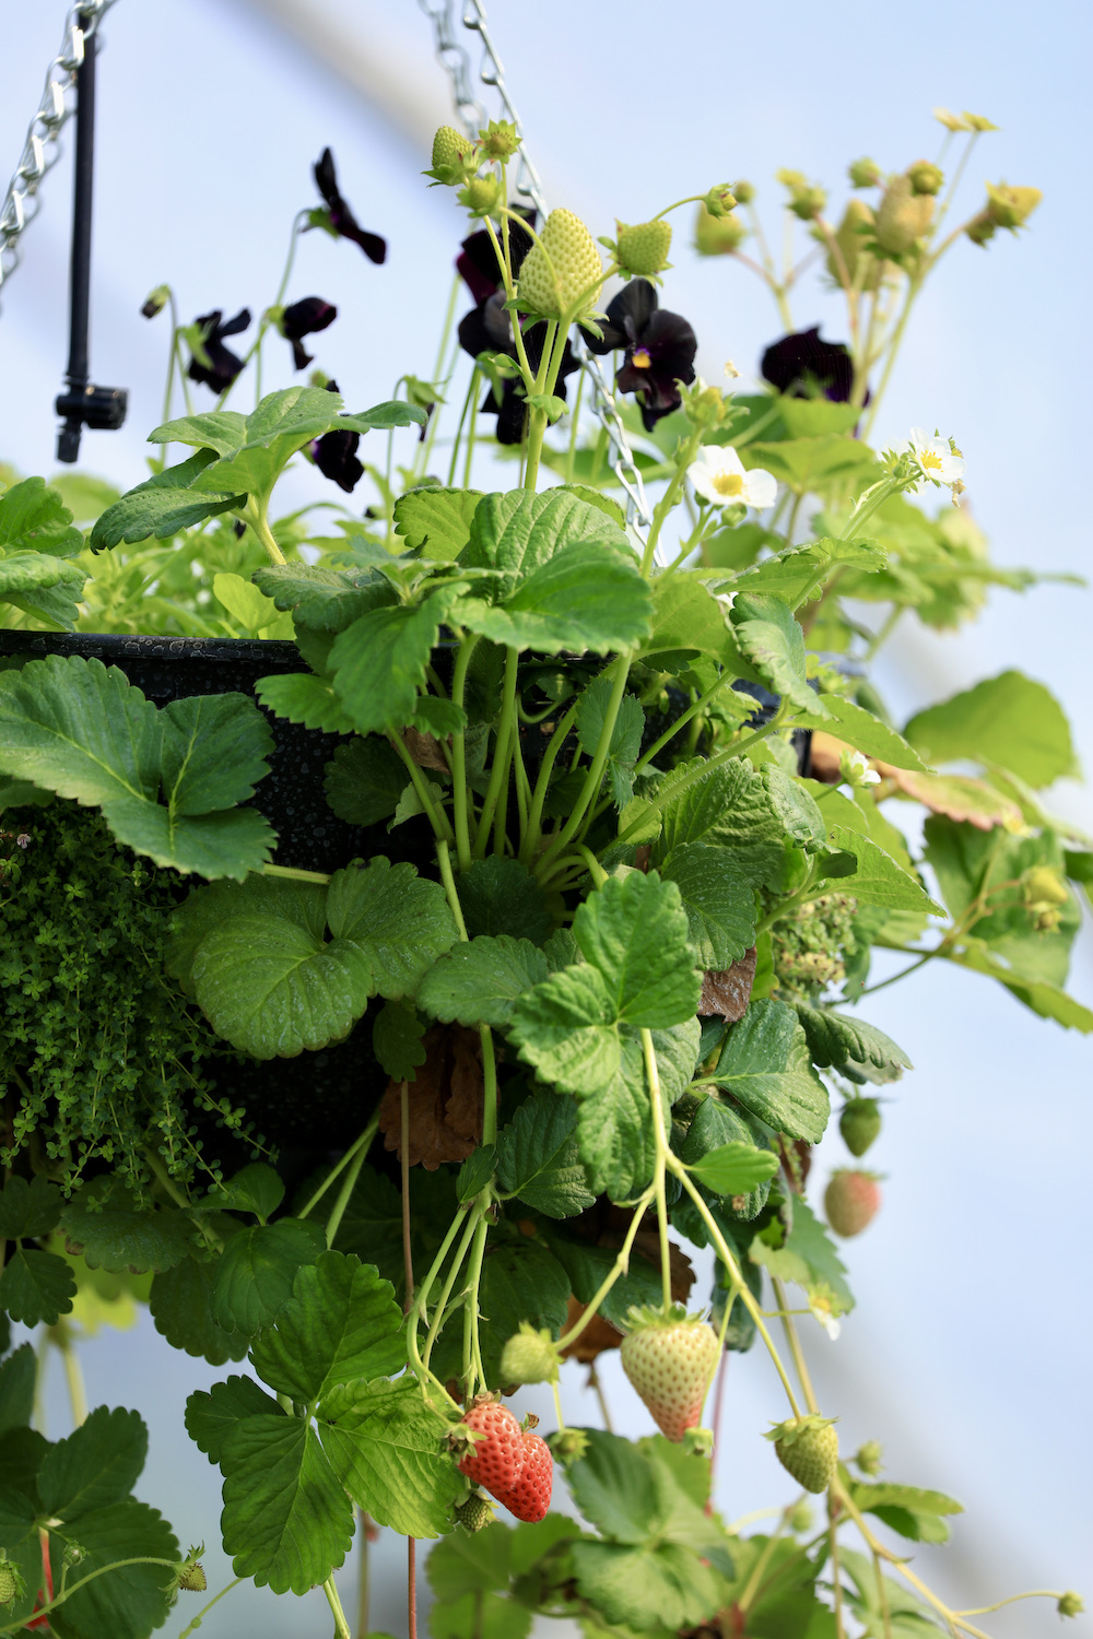
{"type": "MultiPolygon", "coordinates": [[[[420,5],[433,23],[436,54],[452,82],[459,120],[464,128],[475,136],[485,125],[487,115],[485,108],[474,93],[470,54],[454,30],[454,0],[420,0],[420,5]]],[[[460,21],[464,30],[478,34],[482,41],[482,64],[478,67],[480,82],[497,92],[503,116],[516,126],[516,134],[519,138],[516,192],[523,198],[531,200],[536,210],[546,216],[547,205],[542,195],[542,184],[536,167],[528,157],[524,129],[519,115],[513,107],[513,100],[508,95],[505,69],[501,67],[501,59],[498,57],[497,48],[490,39],[485,7],[480,0],[462,0],[460,21]]],[[[649,528],[652,523],[652,508],[646,497],[646,487],[641,482],[641,472],[634,462],[634,454],[629,447],[629,439],[626,438],[626,428],[623,426],[623,418],[619,416],[615,395],[603,377],[603,370],[600,369],[600,361],[585,346],[580,329],[575,331],[570,346],[592,387],[593,411],[611,443],[611,470],[626,492],[626,518],[631,524],[649,528]]]]}

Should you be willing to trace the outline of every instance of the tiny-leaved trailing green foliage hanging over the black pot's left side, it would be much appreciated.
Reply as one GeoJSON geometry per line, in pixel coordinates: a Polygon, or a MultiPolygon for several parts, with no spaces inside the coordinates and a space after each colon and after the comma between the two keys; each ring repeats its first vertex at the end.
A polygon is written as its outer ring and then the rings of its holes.
{"type": "Polygon", "coordinates": [[[241,1111],[202,1075],[223,1044],[164,975],[177,877],[120,849],[102,815],[75,803],[20,810],[11,852],[20,870],[8,864],[0,882],[0,1162],[29,1149],[66,1190],[107,1164],[143,1196],[152,1151],[192,1178],[193,1108],[233,1128],[241,1111]]]}

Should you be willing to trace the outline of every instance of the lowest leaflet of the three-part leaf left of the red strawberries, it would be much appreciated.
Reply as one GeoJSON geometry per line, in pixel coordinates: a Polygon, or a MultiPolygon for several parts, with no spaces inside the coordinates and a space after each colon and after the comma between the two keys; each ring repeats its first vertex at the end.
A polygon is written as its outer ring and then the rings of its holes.
{"type": "Polygon", "coordinates": [[[247,1416],[224,1436],[224,1549],[236,1577],[306,1593],[344,1564],[352,1503],[315,1429],[300,1418],[247,1416]]]}

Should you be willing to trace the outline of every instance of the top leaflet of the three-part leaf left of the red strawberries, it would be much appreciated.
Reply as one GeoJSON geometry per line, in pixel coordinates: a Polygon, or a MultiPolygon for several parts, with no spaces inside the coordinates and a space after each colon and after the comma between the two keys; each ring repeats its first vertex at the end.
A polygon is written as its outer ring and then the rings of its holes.
{"type": "Polygon", "coordinates": [[[401,1370],[406,1341],[392,1285],[357,1257],[323,1252],[297,1270],[251,1360],[270,1388],[306,1405],[339,1383],[401,1370]]]}

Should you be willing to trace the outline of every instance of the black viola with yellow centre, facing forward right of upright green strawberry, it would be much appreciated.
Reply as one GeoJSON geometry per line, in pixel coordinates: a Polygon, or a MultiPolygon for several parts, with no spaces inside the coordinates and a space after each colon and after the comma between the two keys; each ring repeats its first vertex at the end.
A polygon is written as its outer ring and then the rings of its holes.
{"type": "Polygon", "coordinates": [[[608,305],[603,336],[585,334],[590,352],[626,349],[616,385],[623,393],[636,393],[646,433],[660,416],[678,410],[678,384],[695,380],[698,339],[685,318],[667,313],[659,305],[655,285],[647,279],[631,279],[608,305]]]}

